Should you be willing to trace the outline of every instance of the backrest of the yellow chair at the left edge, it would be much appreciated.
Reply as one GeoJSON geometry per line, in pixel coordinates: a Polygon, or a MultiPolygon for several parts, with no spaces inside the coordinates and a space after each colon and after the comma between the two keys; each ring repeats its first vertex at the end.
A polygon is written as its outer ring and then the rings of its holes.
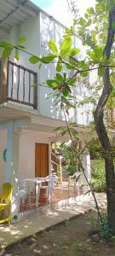
{"type": "Polygon", "coordinates": [[[10,183],[3,183],[1,202],[10,203],[12,199],[13,186],[10,183]]]}

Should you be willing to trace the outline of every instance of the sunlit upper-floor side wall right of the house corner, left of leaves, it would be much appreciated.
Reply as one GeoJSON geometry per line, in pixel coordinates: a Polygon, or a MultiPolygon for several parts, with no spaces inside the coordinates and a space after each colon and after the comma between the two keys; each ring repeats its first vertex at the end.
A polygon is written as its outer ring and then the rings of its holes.
{"type": "MultiPolygon", "coordinates": [[[[55,22],[54,19],[41,13],[40,15],[40,54],[49,54],[49,40],[54,39],[56,44],[59,45],[62,39],[64,28],[55,22]]],[[[52,79],[55,77],[55,63],[49,65],[43,65],[40,69],[40,84],[45,83],[47,79],[52,79]]],[[[46,84],[43,84],[46,85],[46,84]]],[[[53,92],[49,88],[43,86],[40,87],[40,113],[53,118],[62,118],[62,113],[57,110],[55,111],[52,96],[49,93],[53,92]],[[49,97],[49,99],[48,99],[49,97]]]]}

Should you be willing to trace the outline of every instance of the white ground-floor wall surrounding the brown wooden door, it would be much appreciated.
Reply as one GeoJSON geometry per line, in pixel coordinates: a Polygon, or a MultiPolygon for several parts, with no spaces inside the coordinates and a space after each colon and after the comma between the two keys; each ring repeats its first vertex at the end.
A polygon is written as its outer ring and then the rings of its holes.
{"type": "Polygon", "coordinates": [[[49,171],[51,143],[40,132],[20,134],[19,177],[35,177],[35,143],[49,143],[49,171]]]}

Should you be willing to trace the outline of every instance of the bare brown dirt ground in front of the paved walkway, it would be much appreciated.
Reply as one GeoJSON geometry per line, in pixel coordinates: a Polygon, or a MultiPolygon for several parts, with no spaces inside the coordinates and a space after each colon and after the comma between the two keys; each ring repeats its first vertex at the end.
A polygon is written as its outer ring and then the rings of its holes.
{"type": "Polygon", "coordinates": [[[115,256],[114,243],[94,242],[89,237],[94,212],[72,218],[49,231],[34,235],[10,248],[5,256],[115,256]]]}

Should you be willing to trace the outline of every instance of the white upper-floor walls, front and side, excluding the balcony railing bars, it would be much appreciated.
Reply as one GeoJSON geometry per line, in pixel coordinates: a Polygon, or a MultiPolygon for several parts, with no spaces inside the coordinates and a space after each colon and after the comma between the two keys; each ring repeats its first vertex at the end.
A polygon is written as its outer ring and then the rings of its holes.
{"type": "MultiPolygon", "coordinates": [[[[5,40],[9,40],[10,42],[16,44],[18,39],[21,37],[26,37],[27,43],[27,51],[31,52],[33,55],[47,55],[49,53],[49,39],[54,39],[56,44],[60,45],[61,39],[64,33],[64,26],[61,26],[56,20],[52,17],[45,15],[43,12],[38,13],[36,17],[30,18],[30,20],[26,20],[21,26],[14,26],[9,32],[9,37],[4,38],[5,40]]],[[[74,37],[74,46],[81,47],[80,41],[78,38],[74,37]]],[[[46,79],[54,78],[55,76],[55,63],[49,65],[43,65],[43,67],[39,70],[38,65],[32,65],[28,61],[30,55],[27,55],[24,52],[20,51],[20,61],[19,63],[22,66],[28,67],[38,74],[38,84],[42,84],[46,81],[46,79]]],[[[13,58],[13,56],[12,56],[13,58]]],[[[11,73],[11,71],[10,71],[11,73]]],[[[14,97],[16,96],[17,91],[17,78],[18,71],[14,69],[14,97]]],[[[10,86],[11,81],[9,78],[10,86]]],[[[23,72],[20,73],[20,83],[23,84],[23,72]]],[[[28,99],[28,90],[29,90],[29,80],[26,74],[26,101],[28,99]]],[[[31,84],[33,84],[33,78],[31,78],[31,84]]],[[[55,119],[63,119],[64,114],[60,111],[60,109],[54,108],[54,98],[53,96],[49,96],[49,93],[53,92],[49,88],[44,86],[45,84],[38,86],[38,110],[39,113],[49,116],[55,119]],[[49,99],[48,99],[49,97],[49,99]]],[[[10,87],[11,88],[11,87],[10,87]]],[[[20,100],[22,99],[22,91],[23,86],[21,86],[19,90],[20,100]]],[[[11,90],[9,90],[10,94],[11,90]]],[[[84,89],[83,84],[77,84],[77,88],[74,90],[74,95],[77,97],[83,97],[83,95],[87,94],[84,89]]],[[[33,87],[31,92],[31,103],[33,103],[33,87]]],[[[57,107],[57,106],[56,106],[57,107]]],[[[70,120],[72,122],[77,122],[80,125],[87,125],[89,123],[89,113],[86,113],[86,110],[89,112],[90,106],[84,106],[77,109],[71,109],[70,111],[70,120]]]]}

